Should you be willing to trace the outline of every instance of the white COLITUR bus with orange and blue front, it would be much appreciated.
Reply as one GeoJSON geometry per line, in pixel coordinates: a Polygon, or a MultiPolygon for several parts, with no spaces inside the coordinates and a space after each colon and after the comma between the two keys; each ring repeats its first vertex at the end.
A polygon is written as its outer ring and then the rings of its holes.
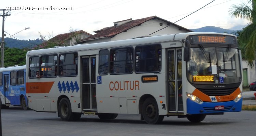
{"type": "Polygon", "coordinates": [[[141,114],[200,122],[206,115],[240,112],[241,53],[224,33],[180,33],[27,52],[28,106],[114,119],[141,114]],[[41,78],[37,78],[39,72],[41,78]]]}

